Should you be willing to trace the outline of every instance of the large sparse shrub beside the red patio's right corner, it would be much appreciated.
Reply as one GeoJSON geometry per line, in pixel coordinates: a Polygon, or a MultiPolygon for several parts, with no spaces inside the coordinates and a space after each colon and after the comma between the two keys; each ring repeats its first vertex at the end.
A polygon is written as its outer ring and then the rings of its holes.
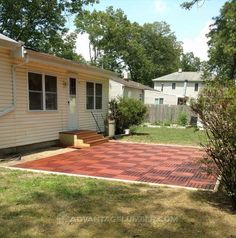
{"type": "Polygon", "coordinates": [[[236,209],[236,86],[216,80],[208,83],[191,107],[208,138],[203,163],[209,172],[221,175],[221,184],[236,209]]]}

